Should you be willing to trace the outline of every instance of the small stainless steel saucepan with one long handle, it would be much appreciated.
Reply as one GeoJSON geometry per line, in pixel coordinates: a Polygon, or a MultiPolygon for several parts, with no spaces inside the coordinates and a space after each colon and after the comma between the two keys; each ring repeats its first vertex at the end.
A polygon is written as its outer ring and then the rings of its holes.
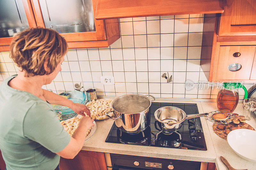
{"type": "Polygon", "coordinates": [[[177,107],[165,106],[155,111],[155,118],[158,122],[162,123],[162,130],[164,132],[178,131],[184,120],[192,119],[195,117],[206,117],[208,113],[186,115],[186,113],[177,107]]]}

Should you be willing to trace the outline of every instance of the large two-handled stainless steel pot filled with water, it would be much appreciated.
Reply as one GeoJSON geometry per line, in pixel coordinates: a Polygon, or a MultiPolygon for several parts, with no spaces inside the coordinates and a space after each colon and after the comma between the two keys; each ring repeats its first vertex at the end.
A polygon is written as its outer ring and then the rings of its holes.
{"type": "Polygon", "coordinates": [[[116,126],[120,131],[124,131],[126,133],[139,133],[143,131],[150,125],[150,113],[149,107],[151,102],[155,101],[151,100],[147,97],[151,95],[139,95],[139,94],[130,94],[124,95],[116,98],[112,102],[112,108],[114,111],[115,117],[110,119],[115,120],[116,126]]]}

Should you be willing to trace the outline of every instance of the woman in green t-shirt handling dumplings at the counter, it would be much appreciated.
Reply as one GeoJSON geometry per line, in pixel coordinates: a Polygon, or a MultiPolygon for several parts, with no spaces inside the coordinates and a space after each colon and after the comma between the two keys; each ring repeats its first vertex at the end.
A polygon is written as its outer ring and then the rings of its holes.
{"type": "Polygon", "coordinates": [[[7,170],[58,169],[60,156],[73,159],[81,150],[93,120],[82,118],[70,137],[51,104],[80,115],[90,110],[42,89],[61,71],[67,50],[66,40],[51,29],[31,28],[13,38],[11,58],[20,70],[0,85],[0,150],[7,170]]]}

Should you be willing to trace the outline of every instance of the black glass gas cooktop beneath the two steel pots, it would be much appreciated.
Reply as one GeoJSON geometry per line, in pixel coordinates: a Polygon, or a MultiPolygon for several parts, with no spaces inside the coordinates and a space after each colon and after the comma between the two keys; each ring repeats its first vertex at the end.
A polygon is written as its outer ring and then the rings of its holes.
{"type": "Polygon", "coordinates": [[[168,135],[159,133],[158,137],[155,138],[161,129],[155,119],[154,113],[158,108],[164,106],[178,107],[184,110],[187,115],[198,114],[197,105],[194,103],[152,102],[149,108],[151,117],[150,126],[137,134],[130,134],[119,131],[114,122],[105,142],[206,151],[204,132],[199,117],[186,119],[179,131],[168,135]]]}

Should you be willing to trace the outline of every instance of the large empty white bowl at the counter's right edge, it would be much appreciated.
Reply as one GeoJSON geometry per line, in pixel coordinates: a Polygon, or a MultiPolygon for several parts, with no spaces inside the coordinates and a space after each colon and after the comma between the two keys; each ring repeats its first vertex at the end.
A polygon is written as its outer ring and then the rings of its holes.
{"type": "Polygon", "coordinates": [[[242,158],[256,162],[256,131],[236,129],[228,133],[228,144],[242,158]]]}

